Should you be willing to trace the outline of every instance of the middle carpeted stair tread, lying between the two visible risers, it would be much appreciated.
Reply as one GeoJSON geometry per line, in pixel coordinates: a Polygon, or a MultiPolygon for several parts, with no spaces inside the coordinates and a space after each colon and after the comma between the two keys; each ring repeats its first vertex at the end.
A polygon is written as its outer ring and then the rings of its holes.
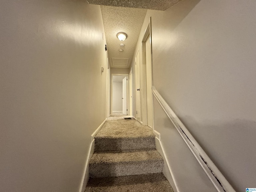
{"type": "Polygon", "coordinates": [[[156,149],[95,152],[90,164],[163,160],[156,149]]]}

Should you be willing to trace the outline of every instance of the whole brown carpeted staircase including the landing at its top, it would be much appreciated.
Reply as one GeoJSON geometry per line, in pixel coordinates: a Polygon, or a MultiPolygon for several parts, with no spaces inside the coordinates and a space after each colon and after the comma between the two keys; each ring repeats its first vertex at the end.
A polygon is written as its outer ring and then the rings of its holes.
{"type": "Polygon", "coordinates": [[[136,120],[107,120],[95,137],[85,191],[173,192],[163,164],[151,128],[136,120]]]}

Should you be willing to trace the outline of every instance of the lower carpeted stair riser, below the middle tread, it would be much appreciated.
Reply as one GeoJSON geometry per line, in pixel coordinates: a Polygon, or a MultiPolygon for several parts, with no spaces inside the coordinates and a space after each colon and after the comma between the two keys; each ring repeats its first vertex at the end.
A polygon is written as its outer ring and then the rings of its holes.
{"type": "Polygon", "coordinates": [[[89,164],[89,173],[91,178],[151,174],[162,172],[163,165],[163,160],[89,164]]]}

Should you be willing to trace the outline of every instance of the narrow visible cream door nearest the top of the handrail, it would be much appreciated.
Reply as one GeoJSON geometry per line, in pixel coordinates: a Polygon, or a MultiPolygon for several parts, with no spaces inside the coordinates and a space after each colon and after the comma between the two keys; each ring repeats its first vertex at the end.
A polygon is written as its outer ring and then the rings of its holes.
{"type": "Polygon", "coordinates": [[[146,40],[147,124],[153,127],[152,69],[150,38],[146,40]]]}

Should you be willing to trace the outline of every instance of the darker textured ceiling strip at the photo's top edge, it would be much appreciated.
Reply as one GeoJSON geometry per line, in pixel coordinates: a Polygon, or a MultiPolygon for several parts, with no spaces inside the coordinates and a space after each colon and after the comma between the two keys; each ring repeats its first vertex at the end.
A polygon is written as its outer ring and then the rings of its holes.
{"type": "Polygon", "coordinates": [[[90,4],[166,10],[181,0],[87,0],[90,4]]]}

